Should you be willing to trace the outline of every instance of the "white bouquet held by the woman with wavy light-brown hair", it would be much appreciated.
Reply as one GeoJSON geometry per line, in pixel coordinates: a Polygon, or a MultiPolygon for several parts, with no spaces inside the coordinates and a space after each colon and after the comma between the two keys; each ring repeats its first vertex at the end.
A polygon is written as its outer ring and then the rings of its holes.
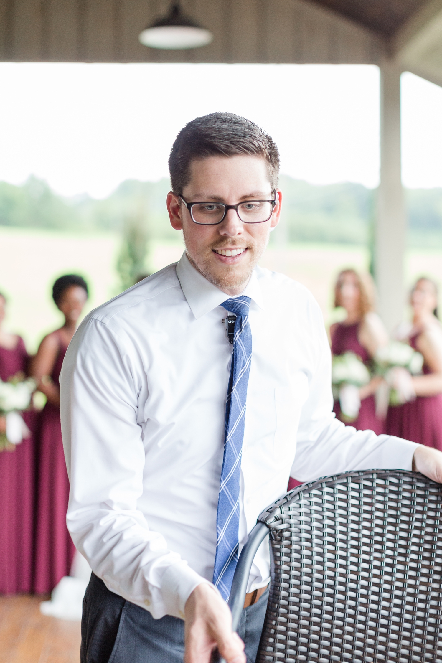
{"type": "Polygon", "coordinates": [[[345,422],[357,419],[360,409],[359,387],[368,385],[370,372],[354,352],[335,355],[331,365],[333,398],[339,400],[345,422]]]}

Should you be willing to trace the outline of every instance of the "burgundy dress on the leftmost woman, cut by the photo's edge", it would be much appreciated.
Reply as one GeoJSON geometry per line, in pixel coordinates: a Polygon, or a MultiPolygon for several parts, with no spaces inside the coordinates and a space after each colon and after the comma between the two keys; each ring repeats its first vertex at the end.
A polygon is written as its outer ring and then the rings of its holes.
{"type": "MultiPolygon", "coordinates": [[[[6,381],[18,371],[26,373],[28,353],[23,339],[17,347],[0,347],[0,378],[6,381]]],[[[29,430],[35,413],[24,412],[29,430]]],[[[32,590],[34,530],[34,438],[0,453],[0,593],[32,590]]]]}

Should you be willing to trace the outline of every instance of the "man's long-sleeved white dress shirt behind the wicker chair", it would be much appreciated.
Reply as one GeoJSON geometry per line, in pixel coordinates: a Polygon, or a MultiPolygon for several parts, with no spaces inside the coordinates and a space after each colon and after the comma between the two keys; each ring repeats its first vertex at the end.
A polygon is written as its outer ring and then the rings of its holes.
{"type": "MultiPolygon", "coordinates": [[[[240,548],[290,474],[411,469],[416,447],[335,419],[329,343],[304,286],[256,267],[243,294],[252,300],[252,362],[240,548]]],[[[184,254],[92,311],[64,359],[68,528],[107,587],[156,618],[184,617],[190,593],[212,579],[233,347],[222,322],[228,298],[184,254]]],[[[264,542],[247,591],[268,577],[264,542]]]]}

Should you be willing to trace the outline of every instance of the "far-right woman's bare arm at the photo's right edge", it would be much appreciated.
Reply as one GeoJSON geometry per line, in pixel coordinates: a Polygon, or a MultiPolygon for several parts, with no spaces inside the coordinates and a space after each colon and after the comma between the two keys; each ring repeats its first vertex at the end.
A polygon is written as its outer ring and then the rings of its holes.
{"type": "Polygon", "coordinates": [[[442,330],[431,327],[417,338],[416,347],[423,355],[431,373],[416,375],[413,387],[416,396],[435,396],[442,393],[442,330]]]}

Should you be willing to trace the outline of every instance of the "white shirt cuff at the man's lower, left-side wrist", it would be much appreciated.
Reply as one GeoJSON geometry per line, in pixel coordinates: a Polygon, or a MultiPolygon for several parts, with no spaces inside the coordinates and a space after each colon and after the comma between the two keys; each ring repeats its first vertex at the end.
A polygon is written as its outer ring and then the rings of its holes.
{"type": "Polygon", "coordinates": [[[201,583],[211,585],[208,580],[193,571],[184,560],[172,564],[164,573],[161,581],[161,593],[166,613],[172,617],[184,619],[186,601],[193,589],[201,583]]]}

